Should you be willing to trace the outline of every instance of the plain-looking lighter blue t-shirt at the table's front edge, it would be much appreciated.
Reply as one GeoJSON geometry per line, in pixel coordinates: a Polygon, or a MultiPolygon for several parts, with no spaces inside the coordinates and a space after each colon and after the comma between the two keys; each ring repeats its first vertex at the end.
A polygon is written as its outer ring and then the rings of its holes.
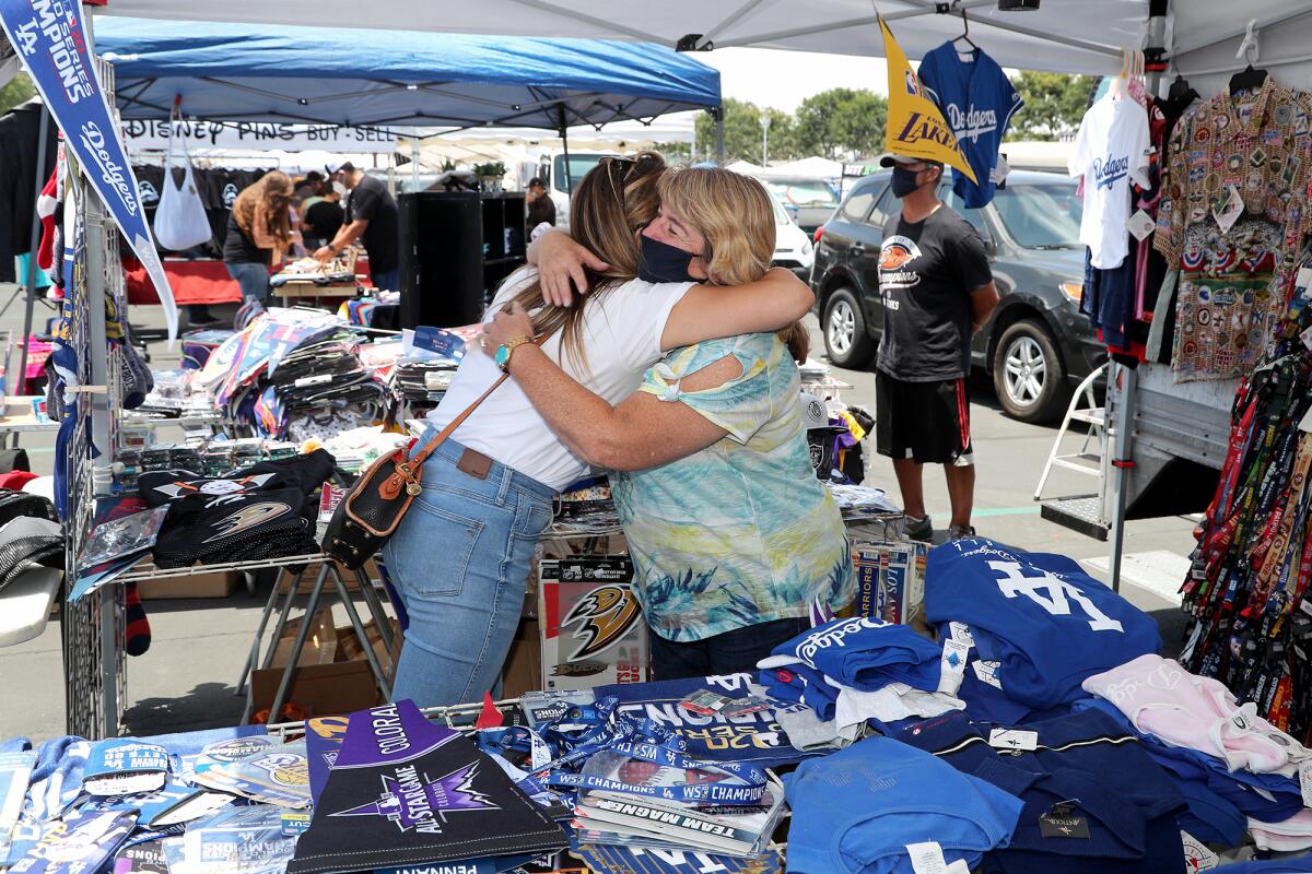
{"type": "Polygon", "coordinates": [[[1022,803],[897,740],[871,736],[783,777],[789,874],[912,874],[907,844],[934,840],[951,865],[1006,846],[1022,803]]]}

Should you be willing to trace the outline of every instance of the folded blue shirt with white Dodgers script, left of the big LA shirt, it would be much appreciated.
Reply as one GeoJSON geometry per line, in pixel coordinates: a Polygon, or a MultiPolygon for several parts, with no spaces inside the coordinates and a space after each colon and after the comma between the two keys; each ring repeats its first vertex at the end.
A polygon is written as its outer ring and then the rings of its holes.
{"type": "Polygon", "coordinates": [[[834,683],[878,692],[890,683],[937,692],[943,647],[909,625],[878,618],[836,618],[781,643],[761,668],[804,664],[834,683]]]}

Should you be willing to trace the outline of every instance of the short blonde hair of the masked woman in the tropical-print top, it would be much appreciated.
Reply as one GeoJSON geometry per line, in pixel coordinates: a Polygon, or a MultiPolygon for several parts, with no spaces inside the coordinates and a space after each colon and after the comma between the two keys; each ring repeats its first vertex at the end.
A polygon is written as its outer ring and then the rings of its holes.
{"type": "MultiPolygon", "coordinates": [[[[706,238],[702,259],[716,286],[756,282],[774,257],[774,203],[756,180],[720,168],[690,166],[664,174],[660,200],[706,238]]],[[[804,362],[811,335],[798,321],[778,332],[794,360],[804,362]]]]}

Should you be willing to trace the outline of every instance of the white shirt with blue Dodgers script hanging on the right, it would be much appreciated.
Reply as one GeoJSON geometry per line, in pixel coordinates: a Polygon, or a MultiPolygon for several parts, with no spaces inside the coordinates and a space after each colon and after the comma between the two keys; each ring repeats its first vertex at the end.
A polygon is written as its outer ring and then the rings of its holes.
{"type": "Polygon", "coordinates": [[[1130,254],[1130,181],[1148,186],[1148,111],[1130,97],[1103,97],[1080,122],[1069,170],[1084,177],[1080,242],[1094,267],[1119,267],[1130,254]]]}

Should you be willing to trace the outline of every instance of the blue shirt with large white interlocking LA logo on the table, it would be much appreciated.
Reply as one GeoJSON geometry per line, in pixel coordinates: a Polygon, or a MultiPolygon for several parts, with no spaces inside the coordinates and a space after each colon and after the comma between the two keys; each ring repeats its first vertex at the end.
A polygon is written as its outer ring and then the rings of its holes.
{"type": "Polygon", "coordinates": [[[968,624],[1006,697],[1031,708],[1078,701],[1085,679],[1161,649],[1157,622],[1075,561],[983,537],[930,550],[925,617],[968,624]]]}

